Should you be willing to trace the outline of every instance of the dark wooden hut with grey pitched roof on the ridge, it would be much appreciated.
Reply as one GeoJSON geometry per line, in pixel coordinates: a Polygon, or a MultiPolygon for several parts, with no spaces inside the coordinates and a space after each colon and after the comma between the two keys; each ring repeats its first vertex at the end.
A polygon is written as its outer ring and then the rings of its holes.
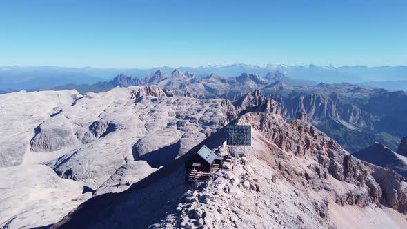
{"type": "Polygon", "coordinates": [[[222,157],[203,145],[198,152],[186,161],[188,181],[204,181],[212,177],[212,172],[221,166],[222,157]]]}

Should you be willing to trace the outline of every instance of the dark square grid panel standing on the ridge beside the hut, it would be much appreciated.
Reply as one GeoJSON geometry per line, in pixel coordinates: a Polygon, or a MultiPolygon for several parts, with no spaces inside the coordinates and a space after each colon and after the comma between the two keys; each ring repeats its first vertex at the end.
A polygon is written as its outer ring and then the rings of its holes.
{"type": "Polygon", "coordinates": [[[252,127],[244,125],[228,126],[229,146],[250,146],[252,144],[252,127]]]}

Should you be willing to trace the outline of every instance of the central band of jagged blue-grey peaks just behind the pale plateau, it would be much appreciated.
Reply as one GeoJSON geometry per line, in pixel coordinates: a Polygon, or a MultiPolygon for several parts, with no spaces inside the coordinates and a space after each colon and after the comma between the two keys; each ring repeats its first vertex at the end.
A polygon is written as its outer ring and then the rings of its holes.
{"type": "Polygon", "coordinates": [[[261,89],[275,82],[286,86],[313,86],[317,82],[286,77],[281,72],[268,72],[265,77],[258,74],[241,73],[237,77],[221,77],[218,74],[195,74],[195,72],[181,72],[173,70],[166,74],[159,69],[150,72],[143,78],[132,77],[129,74],[119,74],[110,81],[101,81],[93,84],[68,84],[56,86],[50,90],[75,89],[81,94],[87,92],[106,92],[111,88],[127,86],[159,85],[161,88],[172,90],[177,95],[189,94],[199,99],[228,98],[236,99],[254,89],[261,89]]]}

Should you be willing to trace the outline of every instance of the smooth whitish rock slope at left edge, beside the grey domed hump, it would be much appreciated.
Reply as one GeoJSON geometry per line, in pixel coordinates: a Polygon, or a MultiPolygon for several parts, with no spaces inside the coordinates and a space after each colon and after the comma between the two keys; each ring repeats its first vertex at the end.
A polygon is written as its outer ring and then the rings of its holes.
{"type": "Polygon", "coordinates": [[[0,94],[0,167],[23,163],[34,128],[80,97],[76,90],[0,94]]]}

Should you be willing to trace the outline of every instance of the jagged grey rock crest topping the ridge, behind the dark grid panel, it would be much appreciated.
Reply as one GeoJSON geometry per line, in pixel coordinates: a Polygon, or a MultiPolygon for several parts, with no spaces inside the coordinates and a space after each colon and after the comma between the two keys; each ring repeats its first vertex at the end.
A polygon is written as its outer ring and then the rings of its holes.
{"type": "Polygon", "coordinates": [[[235,102],[241,112],[269,112],[281,115],[281,104],[273,99],[267,99],[258,89],[244,95],[235,102]]]}

